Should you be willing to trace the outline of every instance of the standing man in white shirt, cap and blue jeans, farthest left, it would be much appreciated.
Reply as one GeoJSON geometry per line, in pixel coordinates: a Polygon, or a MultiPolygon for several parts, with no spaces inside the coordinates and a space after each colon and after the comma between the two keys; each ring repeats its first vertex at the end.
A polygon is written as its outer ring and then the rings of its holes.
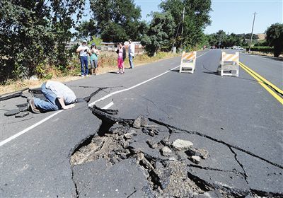
{"type": "Polygon", "coordinates": [[[86,45],[86,40],[83,40],[82,45],[76,49],[76,52],[79,53],[81,61],[81,77],[88,75],[88,54],[91,55],[91,50],[86,45]]]}

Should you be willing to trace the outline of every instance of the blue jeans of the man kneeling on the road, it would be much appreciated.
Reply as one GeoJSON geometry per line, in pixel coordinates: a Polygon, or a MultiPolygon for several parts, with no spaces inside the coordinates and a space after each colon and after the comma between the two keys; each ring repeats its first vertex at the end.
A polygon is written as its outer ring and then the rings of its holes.
{"type": "Polygon", "coordinates": [[[49,88],[46,88],[46,83],[42,84],[41,92],[47,100],[34,98],[35,107],[43,111],[56,111],[61,108],[59,100],[57,100],[57,96],[49,88]]]}

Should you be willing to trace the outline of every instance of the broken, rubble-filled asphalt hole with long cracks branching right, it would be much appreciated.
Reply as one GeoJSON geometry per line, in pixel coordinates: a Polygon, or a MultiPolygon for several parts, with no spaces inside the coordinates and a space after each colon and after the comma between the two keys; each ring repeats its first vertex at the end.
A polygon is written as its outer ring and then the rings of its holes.
{"type": "MultiPolygon", "coordinates": [[[[100,88],[100,91],[103,89],[100,88]]],[[[96,91],[96,93],[98,92],[96,91]]],[[[117,110],[103,110],[96,107],[96,105],[89,107],[89,109],[93,115],[102,120],[102,124],[98,132],[81,141],[71,153],[71,167],[97,161],[101,158],[108,162],[109,167],[122,163],[127,159],[136,161],[137,165],[144,170],[148,186],[134,187],[134,192],[125,193],[125,197],[132,197],[134,194],[141,192],[144,193],[144,197],[195,197],[196,194],[202,195],[214,191],[221,194],[221,197],[246,197],[249,194],[267,197],[283,196],[283,194],[261,192],[253,189],[238,189],[237,187],[209,182],[196,173],[192,173],[189,169],[198,168],[233,173],[241,175],[248,183],[246,180],[248,175],[232,148],[282,168],[281,165],[267,161],[250,151],[227,144],[200,132],[180,129],[144,116],[139,116],[136,119],[124,119],[116,116],[117,110]],[[235,160],[241,166],[243,173],[238,170],[221,170],[198,165],[200,161],[207,158],[208,151],[202,148],[193,148],[192,145],[178,148],[178,144],[175,144],[177,140],[170,141],[172,134],[179,133],[177,131],[202,136],[228,146],[235,160]]],[[[183,141],[180,145],[188,143],[184,140],[179,141],[183,141]]],[[[107,170],[107,167],[105,169],[107,170]]],[[[74,178],[72,179],[76,186],[76,195],[79,197],[81,189],[74,178]]]]}

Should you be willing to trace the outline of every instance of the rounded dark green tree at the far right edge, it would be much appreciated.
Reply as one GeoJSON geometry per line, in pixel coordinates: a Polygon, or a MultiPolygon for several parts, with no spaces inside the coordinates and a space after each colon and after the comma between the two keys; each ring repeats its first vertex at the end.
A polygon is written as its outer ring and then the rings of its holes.
{"type": "Polygon", "coordinates": [[[267,28],[266,40],[271,47],[274,47],[274,56],[279,57],[283,52],[283,24],[275,23],[267,28]]]}

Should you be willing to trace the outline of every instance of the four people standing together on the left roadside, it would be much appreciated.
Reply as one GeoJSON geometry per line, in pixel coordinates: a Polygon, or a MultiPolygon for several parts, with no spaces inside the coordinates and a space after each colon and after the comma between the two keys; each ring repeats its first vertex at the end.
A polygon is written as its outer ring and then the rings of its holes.
{"type": "MultiPolygon", "coordinates": [[[[98,68],[98,57],[100,56],[100,52],[96,47],[95,43],[91,44],[91,49],[89,49],[86,40],[83,40],[82,45],[80,45],[76,52],[79,53],[80,62],[81,62],[81,77],[88,76],[88,54],[91,57],[91,74],[96,75],[97,68],[98,68]]],[[[122,42],[119,43],[117,47],[117,66],[118,71],[117,74],[124,74],[125,73],[125,66],[124,62],[126,59],[126,49],[122,42]]],[[[132,40],[129,40],[129,69],[134,68],[133,63],[134,58],[134,43],[132,40]]]]}

